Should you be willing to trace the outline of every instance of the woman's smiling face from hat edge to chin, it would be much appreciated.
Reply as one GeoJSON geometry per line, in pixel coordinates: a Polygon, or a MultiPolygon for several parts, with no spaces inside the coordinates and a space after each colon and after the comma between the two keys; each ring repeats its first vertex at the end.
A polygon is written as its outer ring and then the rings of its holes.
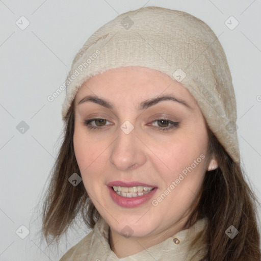
{"type": "Polygon", "coordinates": [[[215,160],[181,83],[144,67],[95,75],[75,96],[74,126],[84,186],[114,232],[149,237],[184,227],[215,160]]]}

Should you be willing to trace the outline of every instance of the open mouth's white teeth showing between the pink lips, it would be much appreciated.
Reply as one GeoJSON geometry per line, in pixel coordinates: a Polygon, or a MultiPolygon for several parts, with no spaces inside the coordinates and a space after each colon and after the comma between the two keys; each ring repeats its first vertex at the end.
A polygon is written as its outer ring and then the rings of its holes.
{"type": "Polygon", "coordinates": [[[152,190],[155,189],[155,187],[153,188],[153,187],[143,187],[143,186],[137,186],[137,187],[113,186],[112,189],[119,196],[126,197],[126,198],[135,198],[150,193],[152,190]]]}

